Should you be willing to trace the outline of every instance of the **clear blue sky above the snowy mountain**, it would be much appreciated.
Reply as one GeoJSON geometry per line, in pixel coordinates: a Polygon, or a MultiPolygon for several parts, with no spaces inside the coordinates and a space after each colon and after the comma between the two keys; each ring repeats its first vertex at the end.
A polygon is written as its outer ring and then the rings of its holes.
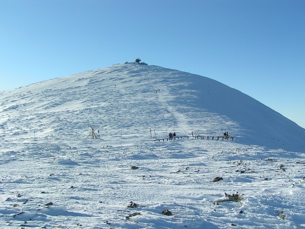
{"type": "Polygon", "coordinates": [[[303,0],[0,0],[0,91],[141,58],[305,128],[303,0]]]}

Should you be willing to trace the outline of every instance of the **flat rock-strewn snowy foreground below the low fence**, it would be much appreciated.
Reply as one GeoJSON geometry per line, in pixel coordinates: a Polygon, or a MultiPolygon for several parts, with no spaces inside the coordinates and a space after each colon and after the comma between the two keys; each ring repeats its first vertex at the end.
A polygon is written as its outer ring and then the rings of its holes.
{"type": "Polygon", "coordinates": [[[1,155],[2,226],[305,228],[304,154],[201,139],[22,145],[1,155]],[[215,205],[225,192],[240,202],[215,205]]]}

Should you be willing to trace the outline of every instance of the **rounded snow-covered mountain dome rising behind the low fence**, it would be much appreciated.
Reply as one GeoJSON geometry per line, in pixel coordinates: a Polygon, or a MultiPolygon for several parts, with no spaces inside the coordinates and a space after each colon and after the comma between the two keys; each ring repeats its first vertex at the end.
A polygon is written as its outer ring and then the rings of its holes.
{"type": "Polygon", "coordinates": [[[5,91],[0,98],[3,139],[31,138],[34,132],[81,137],[95,125],[102,137],[228,131],[242,144],[305,150],[305,129],[280,113],[216,80],[158,66],[113,65],[5,91]]]}

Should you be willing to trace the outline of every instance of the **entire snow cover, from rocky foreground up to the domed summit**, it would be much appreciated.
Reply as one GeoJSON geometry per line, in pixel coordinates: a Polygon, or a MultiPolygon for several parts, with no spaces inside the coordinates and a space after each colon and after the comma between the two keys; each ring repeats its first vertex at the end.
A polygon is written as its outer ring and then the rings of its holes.
{"type": "Polygon", "coordinates": [[[0,99],[2,228],[305,228],[305,130],[215,80],[123,64],[0,99]],[[234,140],[155,141],[192,131],[234,140]]]}

